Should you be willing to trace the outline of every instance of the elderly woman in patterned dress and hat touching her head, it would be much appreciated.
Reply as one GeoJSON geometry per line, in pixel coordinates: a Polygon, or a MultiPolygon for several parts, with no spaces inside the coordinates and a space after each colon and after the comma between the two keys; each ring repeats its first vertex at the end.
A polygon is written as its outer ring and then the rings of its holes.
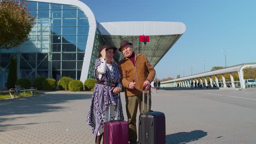
{"type": "Polygon", "coordinates": [[[118,65],[112,62],[116,47],[104,45],[100,47],[98,62],[95,63],[95,79],[97,83],[92,95],[87,117],[87,123],[92,126],[92,133],[96,136],[96,144],[100,144],[104,132],[104,124],[108,121],[108,110],[111,107],[110,118],[124,120],[121,98],[119,97],[119,109],[117,110],[118,93],[121,91],[121,75],[118,65]]]}

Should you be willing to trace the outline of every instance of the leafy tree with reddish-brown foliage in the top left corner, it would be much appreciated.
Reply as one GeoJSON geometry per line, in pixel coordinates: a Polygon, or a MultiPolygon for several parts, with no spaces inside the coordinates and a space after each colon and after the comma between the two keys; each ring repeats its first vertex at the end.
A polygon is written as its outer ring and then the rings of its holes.
{"type": "Polygon", "coordinates": [[[24,43],[35,24],[27,2],[2,0],[0,2],[0,49],[10,49],[24,43]]]}

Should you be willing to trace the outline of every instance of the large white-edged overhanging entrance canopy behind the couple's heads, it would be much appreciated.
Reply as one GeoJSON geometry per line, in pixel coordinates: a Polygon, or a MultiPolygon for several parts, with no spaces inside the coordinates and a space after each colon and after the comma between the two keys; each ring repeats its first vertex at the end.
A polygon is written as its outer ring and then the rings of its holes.
{"type": "MultiPolygon", "coordinates": [[[[121,40],[133,43],[136,53],[143,53],[155,66],[166,52],[185,32],[186,26],[180,22],[108,22],[99,23],[99,31],[109,45],[120,47],[121,40]],[[147,35],[150,41],[144,46],[140,35],[147,35]]],[[[115,55],[121,58],[121,52],[115,55]]]]}

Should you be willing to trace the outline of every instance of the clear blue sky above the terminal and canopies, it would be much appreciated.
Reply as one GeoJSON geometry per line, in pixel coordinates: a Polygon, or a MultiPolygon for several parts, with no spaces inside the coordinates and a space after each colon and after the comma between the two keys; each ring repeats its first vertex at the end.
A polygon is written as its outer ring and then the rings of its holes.
{"type": "Polygon", "coordinates": [[[186,31],[155,66],[157,78],[256,62],[256,0],[81,0],[98,22],[182,22],[186,31]],[[221,52],[223,50],[224,52],[221,52]]]}

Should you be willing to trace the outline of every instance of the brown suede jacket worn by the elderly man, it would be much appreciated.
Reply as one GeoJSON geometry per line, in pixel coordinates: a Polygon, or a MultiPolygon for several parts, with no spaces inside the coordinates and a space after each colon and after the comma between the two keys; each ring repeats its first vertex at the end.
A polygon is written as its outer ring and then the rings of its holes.
{"type": "MultiPolygon", "coordinates": [[[[144,54],[135,54],[135,66],[132,64],[131,60],[126,57],[121,59],[118,63],[119,72],[121,74],[121,84],[125,87],[125,96],[142,95],[145,80],[149,80],[150,82],[154,80],[155,70],[144,54]],[[141,60],[138,66],[140,57],[141,60]],[[130,89],[129,83],[133,81],[136,72],[135,66],[136,68],[138,67],[135,76],[135,88],[130,89]]],[[[145,93],[147,93],[146,90],[145,93]]]]}

